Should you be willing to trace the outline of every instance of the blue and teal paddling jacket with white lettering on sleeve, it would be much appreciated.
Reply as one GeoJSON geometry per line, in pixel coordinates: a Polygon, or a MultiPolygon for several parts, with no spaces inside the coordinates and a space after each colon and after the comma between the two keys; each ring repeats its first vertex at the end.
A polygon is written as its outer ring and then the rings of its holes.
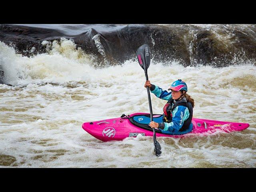
{"type": "MultiPolygon", "coordinates": [[[[167,92],[166,90],[162,90],[162,88],[155,86],[152,84],[150,88],[150,92],[156,95],[160,99],[169,100],[172,98],[172,92],[167,92]]],[[[186,98],[183,98],[186,100],[186,98]]],[[[172,111],[172,122],[159,123],[159,129],[164,134],[171,134],[173,132],[178,132],[180,128],[182,128],[184,121],[186,121],[189,117],[190,113],[187,107],[185,106],[177,106],[172,111]]]]}

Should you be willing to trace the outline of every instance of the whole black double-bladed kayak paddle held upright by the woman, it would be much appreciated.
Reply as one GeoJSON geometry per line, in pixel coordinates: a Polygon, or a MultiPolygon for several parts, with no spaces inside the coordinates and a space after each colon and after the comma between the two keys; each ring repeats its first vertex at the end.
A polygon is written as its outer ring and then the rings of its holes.
{"type": "MultiPolygon", "coordinates": [[[[145,75],[146,75],[146,80],[148,80],[148,68],[150,65],[150,49],[147,44],[144,44],[138,48],[136,51],[136,55],[138,58],[138,62],[142,69],[144,69],[145,75]]],[[[152,112],[152,106],[151,106],[151,99],[150,99],[150,92],[149,92],[149,87],[147,86],[147,91],[148,91],[148,102],[149,102],[149,109],[150,109],[150,121],[153,121],[153,112],[152,112]]],[[[153,140],[154,140],[154,153],[156,156],[159,156],[161,154],[161,146],[156,140],[156,130],[153,128],[153,140]]]]}

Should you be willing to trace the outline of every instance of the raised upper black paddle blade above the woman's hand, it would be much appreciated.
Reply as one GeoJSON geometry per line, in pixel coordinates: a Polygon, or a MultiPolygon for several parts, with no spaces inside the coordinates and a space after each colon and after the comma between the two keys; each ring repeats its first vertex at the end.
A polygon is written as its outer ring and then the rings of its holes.
{"type": "Polygon", "coordinates": [[[150,65],[150,49],[148,44],[140,46],[136,51],[136,55],[140,66],[146,71],[150,65]]]}

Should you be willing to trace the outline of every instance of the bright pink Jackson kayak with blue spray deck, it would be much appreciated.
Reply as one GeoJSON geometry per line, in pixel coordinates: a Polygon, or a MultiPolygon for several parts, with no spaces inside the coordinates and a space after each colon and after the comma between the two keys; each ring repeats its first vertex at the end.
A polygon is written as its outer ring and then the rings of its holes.
{"type": "MultiPolygon", "coordinates": [[[[155,122],[162,122],[162,115],[154,114],[153,120],[155,122]]],[[[125,117],[105,119],[94,122],[85,122],[82,128],[102,141],[123,140],[127,137],[136,137],[138,134],[142,136],[153,136],[152,129],[148,126],[150,122],[150,114],[148,113],[134,113],[125,117]]],[[[184,137],[196,135],[209,135],[216,131],[234,132],[241,131],[248,128],[248,123],[238,122],[224,122],[208,119],[192,118],[191,129],[184,132],[177,132],[174,134],[162,134],[158,129],[156,130],[157,137],[184,137]],[[193,124],[193,125],[192,125],[193,124]]]]}

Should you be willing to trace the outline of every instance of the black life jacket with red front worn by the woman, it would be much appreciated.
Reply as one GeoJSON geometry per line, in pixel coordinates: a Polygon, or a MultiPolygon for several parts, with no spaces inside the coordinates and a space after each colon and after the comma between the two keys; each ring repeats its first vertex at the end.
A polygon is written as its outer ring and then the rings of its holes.
{"type": "Polygon", "coordinates": [[[186,97],[182,98],[181,100],[175,101],[173,98],[170,98],[168,102],[165,104],[163,111],[164,111],[164,117],[163,120],[164,122],[170,123],[172,122],[172,111],[177,107],[177,106],[185,106],[189,110],[189,117],[186,121],[184,121],[183,126],[180,128],[179,131],[184,131],[187,130],[190,126],[190,123],[192,121],[193,117],[193,107],[190,102],[187,102],[186,97]]]}

